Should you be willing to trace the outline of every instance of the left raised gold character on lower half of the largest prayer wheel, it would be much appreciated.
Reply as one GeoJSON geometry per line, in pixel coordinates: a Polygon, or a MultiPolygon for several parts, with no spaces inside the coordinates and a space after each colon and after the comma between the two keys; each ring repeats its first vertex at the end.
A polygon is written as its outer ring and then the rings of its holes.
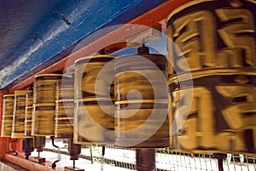
{"type": "MultiPolygon", "coordinates": [[[[177,94],[179,93],[180,91],[177,92],[177,94]]],[[[179,95],[177,94],[174,94],[173,97],[178,97],[179,95]]],[[[174,101],[180,100],[175,99],[174,101]]],[[[176,119],[183,117],[180,116],[182,112],[179,111],[182,107],[178,107],[177,111],[174,112],[176,119]]],[[[194,98],[189,116],[177,135],[177,140],[183,148],[193,150],[198,146],[202,148],[211,148],[213,146],[212,137],[214,132],[212,111],[211,92],[203,87],[194,88],[194,98]]]]}

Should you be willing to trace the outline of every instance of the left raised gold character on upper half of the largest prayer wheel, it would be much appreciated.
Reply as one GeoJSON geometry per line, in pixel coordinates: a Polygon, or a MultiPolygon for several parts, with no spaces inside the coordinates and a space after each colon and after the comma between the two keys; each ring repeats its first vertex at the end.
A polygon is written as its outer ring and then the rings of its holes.
{"type": "MultiPolygon", "coordinates": [[[[213,66],[215,57],[213,56],[215,48],[215,30],[214,16],[208,11],[200,11],[193,14],[187,14],[174,20],[174,31],[171,31],[173,40],[180,48],[185,59],[189,63],[191,71],[201,69],[202,63],[206,66],[213,66]]],[[[177,57],[178,58],[178,57],[177,57]]],[[[177,69],[185,68],[183,62],[177,59],[177,69]]]]}

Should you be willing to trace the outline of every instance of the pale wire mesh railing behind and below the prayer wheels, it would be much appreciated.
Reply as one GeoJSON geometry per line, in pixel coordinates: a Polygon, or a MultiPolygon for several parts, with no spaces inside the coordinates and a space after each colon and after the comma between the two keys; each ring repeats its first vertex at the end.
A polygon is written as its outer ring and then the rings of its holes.
{"type": "MultiPolygon", "coordinates": [[[[83,148],[79,157],[91,160],[91,162],[108,163],[112,166],[136,170],[135,149],[107,145],[105,154],[102,155],[101,145],[91,145],[90,147],[91,149],[88,146],[83,148]]],[[[55,151],[54,148],[45,150],[55,151]]],[[[61,153],[68,154],[67,149],[61,153]]],[[[220,158],[222,168],[219,168],[218,154],[190,154],[161,148],[156,150],[155,171],[256,171],[256,157],[247,157],[241,154],[220,156],[222,157],[220,158]]]]}

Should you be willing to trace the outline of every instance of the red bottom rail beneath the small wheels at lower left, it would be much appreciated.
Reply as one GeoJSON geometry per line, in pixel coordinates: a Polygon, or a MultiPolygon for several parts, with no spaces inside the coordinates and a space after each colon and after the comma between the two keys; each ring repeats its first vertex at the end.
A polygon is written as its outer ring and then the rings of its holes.
{"type": "Polygon", "coordinates": [[[7,160],[8,162],[12,162],[19,165],[21,168],[26,168],[32,171],[53,171],[53,170],[63,171],[64,170],[64,168],[57,168],[57,169],[51,168],[51,162],[44,162],[39,164],[37,162],[26,160],[24,157],[16,157],[11,154],[5,154],[4,159],[7,160]]]}

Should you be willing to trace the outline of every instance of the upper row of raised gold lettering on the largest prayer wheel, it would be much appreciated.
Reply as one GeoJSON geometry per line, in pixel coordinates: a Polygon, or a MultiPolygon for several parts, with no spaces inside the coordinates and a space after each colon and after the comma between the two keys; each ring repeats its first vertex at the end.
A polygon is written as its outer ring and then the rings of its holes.
{"type": "MultiPolygon", "coordinates": [[[[202,10],[177,18],[166,33],[179,48],[167,41],[175,71],[188,71],[180,60],[182,55],[190,71],[207,67],[255,67],[254,22],[252,12],[234,8],[202,10]]],[[[172,67],[168,70],[169,75],[175,73],[172,67]]]]}

